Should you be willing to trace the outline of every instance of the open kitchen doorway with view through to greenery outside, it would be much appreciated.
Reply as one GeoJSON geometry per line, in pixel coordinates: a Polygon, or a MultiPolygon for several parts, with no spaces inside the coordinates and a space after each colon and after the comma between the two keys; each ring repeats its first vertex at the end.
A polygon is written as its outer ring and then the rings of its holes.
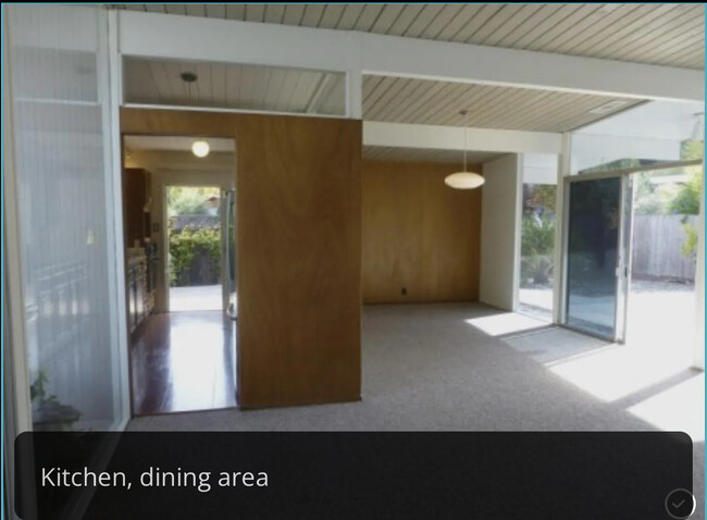
{"type": "Polygon", "coordinates": [[[125,228],[137,226],[126,235],[126,282],[138,294],[127,309],[139,310],[129,331],[133,416],[235,407],[236,321],[226,312],[235,300],[235,144],[139,135],[123,144],[125,228]],[[206,143],[206,154],[195,143],[206,143]]]}

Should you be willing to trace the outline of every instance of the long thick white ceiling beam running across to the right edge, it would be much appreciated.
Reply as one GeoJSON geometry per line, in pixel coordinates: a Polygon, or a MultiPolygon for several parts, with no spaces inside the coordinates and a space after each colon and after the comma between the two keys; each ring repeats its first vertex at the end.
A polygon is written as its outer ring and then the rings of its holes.
{"type": "Polygon", "coordinates": [[[121,11],[125,55],[292,66],[597,94],[704,101],[704,72],[549,52],[121,11]],[[188,37],[185,37],[188,35],[188,37]]]}

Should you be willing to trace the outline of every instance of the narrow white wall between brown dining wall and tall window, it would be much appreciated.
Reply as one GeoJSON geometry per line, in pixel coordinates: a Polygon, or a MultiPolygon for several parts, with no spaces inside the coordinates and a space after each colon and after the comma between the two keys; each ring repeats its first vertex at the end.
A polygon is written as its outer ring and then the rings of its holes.
{"type": "Polygon", "coordinates": [[[486,182],[481,209],[480,300],[505,310],[513,310],[517,299],[520,162],[519,156],[512,153],[486,162],[483,168],[486,182]]]}

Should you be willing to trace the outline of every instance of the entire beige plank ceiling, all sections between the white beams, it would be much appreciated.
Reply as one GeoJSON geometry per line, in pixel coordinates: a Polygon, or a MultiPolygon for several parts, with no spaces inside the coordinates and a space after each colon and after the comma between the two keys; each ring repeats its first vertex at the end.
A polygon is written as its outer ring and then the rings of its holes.
{"type": "MultiPolygon", "coordinates": [[[[704,69],[703,4],[113,4],[113,8],[704,69]]],[[[363,119],[567,132],[641,100],[531,88],[363,77],[363,119]],[[617,102],[611,106],[611,103],[617,102]],[[599,109],[609,103],[609,110],[599,109]],[[468,110],[464,117],[460,110],[468,110]]],[[[126,101],[343,114],[343,76],[317,71],[165,60],[125,61],[126,101]],[[185,84],[179,74],[199,78],[185,84]]],[[[458,152],[367,147],[374,160],[454,163],[458,152]]],[[[476,158],[479,162],[489,158],[476,158]]],[[[473,159],[470,159],[473,160],[473,159]]]]}

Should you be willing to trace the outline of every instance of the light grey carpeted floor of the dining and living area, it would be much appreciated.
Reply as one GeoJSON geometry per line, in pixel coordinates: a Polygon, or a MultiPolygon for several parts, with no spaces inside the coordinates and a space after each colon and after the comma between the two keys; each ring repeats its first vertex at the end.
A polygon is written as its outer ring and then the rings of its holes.
{"type": "MultiPolygon", "coordinates": [[[[483,332],[480,324],[500,314],[475,304],[367,307],[361,401],[142,417],[132,420],[128,430],[657,430],[628,411],[622,399],[597,398],[547,366],[607,348],[604,342],[565,330],[548,330],[548,341],[542,329],[529,333],[528,323],[518,334],[483,332]]],[[[704,409],[685,413],[704,417],[704,409]]],[[[699,441],[695,490],[704,488],[704,438],[699,441]]]]}

